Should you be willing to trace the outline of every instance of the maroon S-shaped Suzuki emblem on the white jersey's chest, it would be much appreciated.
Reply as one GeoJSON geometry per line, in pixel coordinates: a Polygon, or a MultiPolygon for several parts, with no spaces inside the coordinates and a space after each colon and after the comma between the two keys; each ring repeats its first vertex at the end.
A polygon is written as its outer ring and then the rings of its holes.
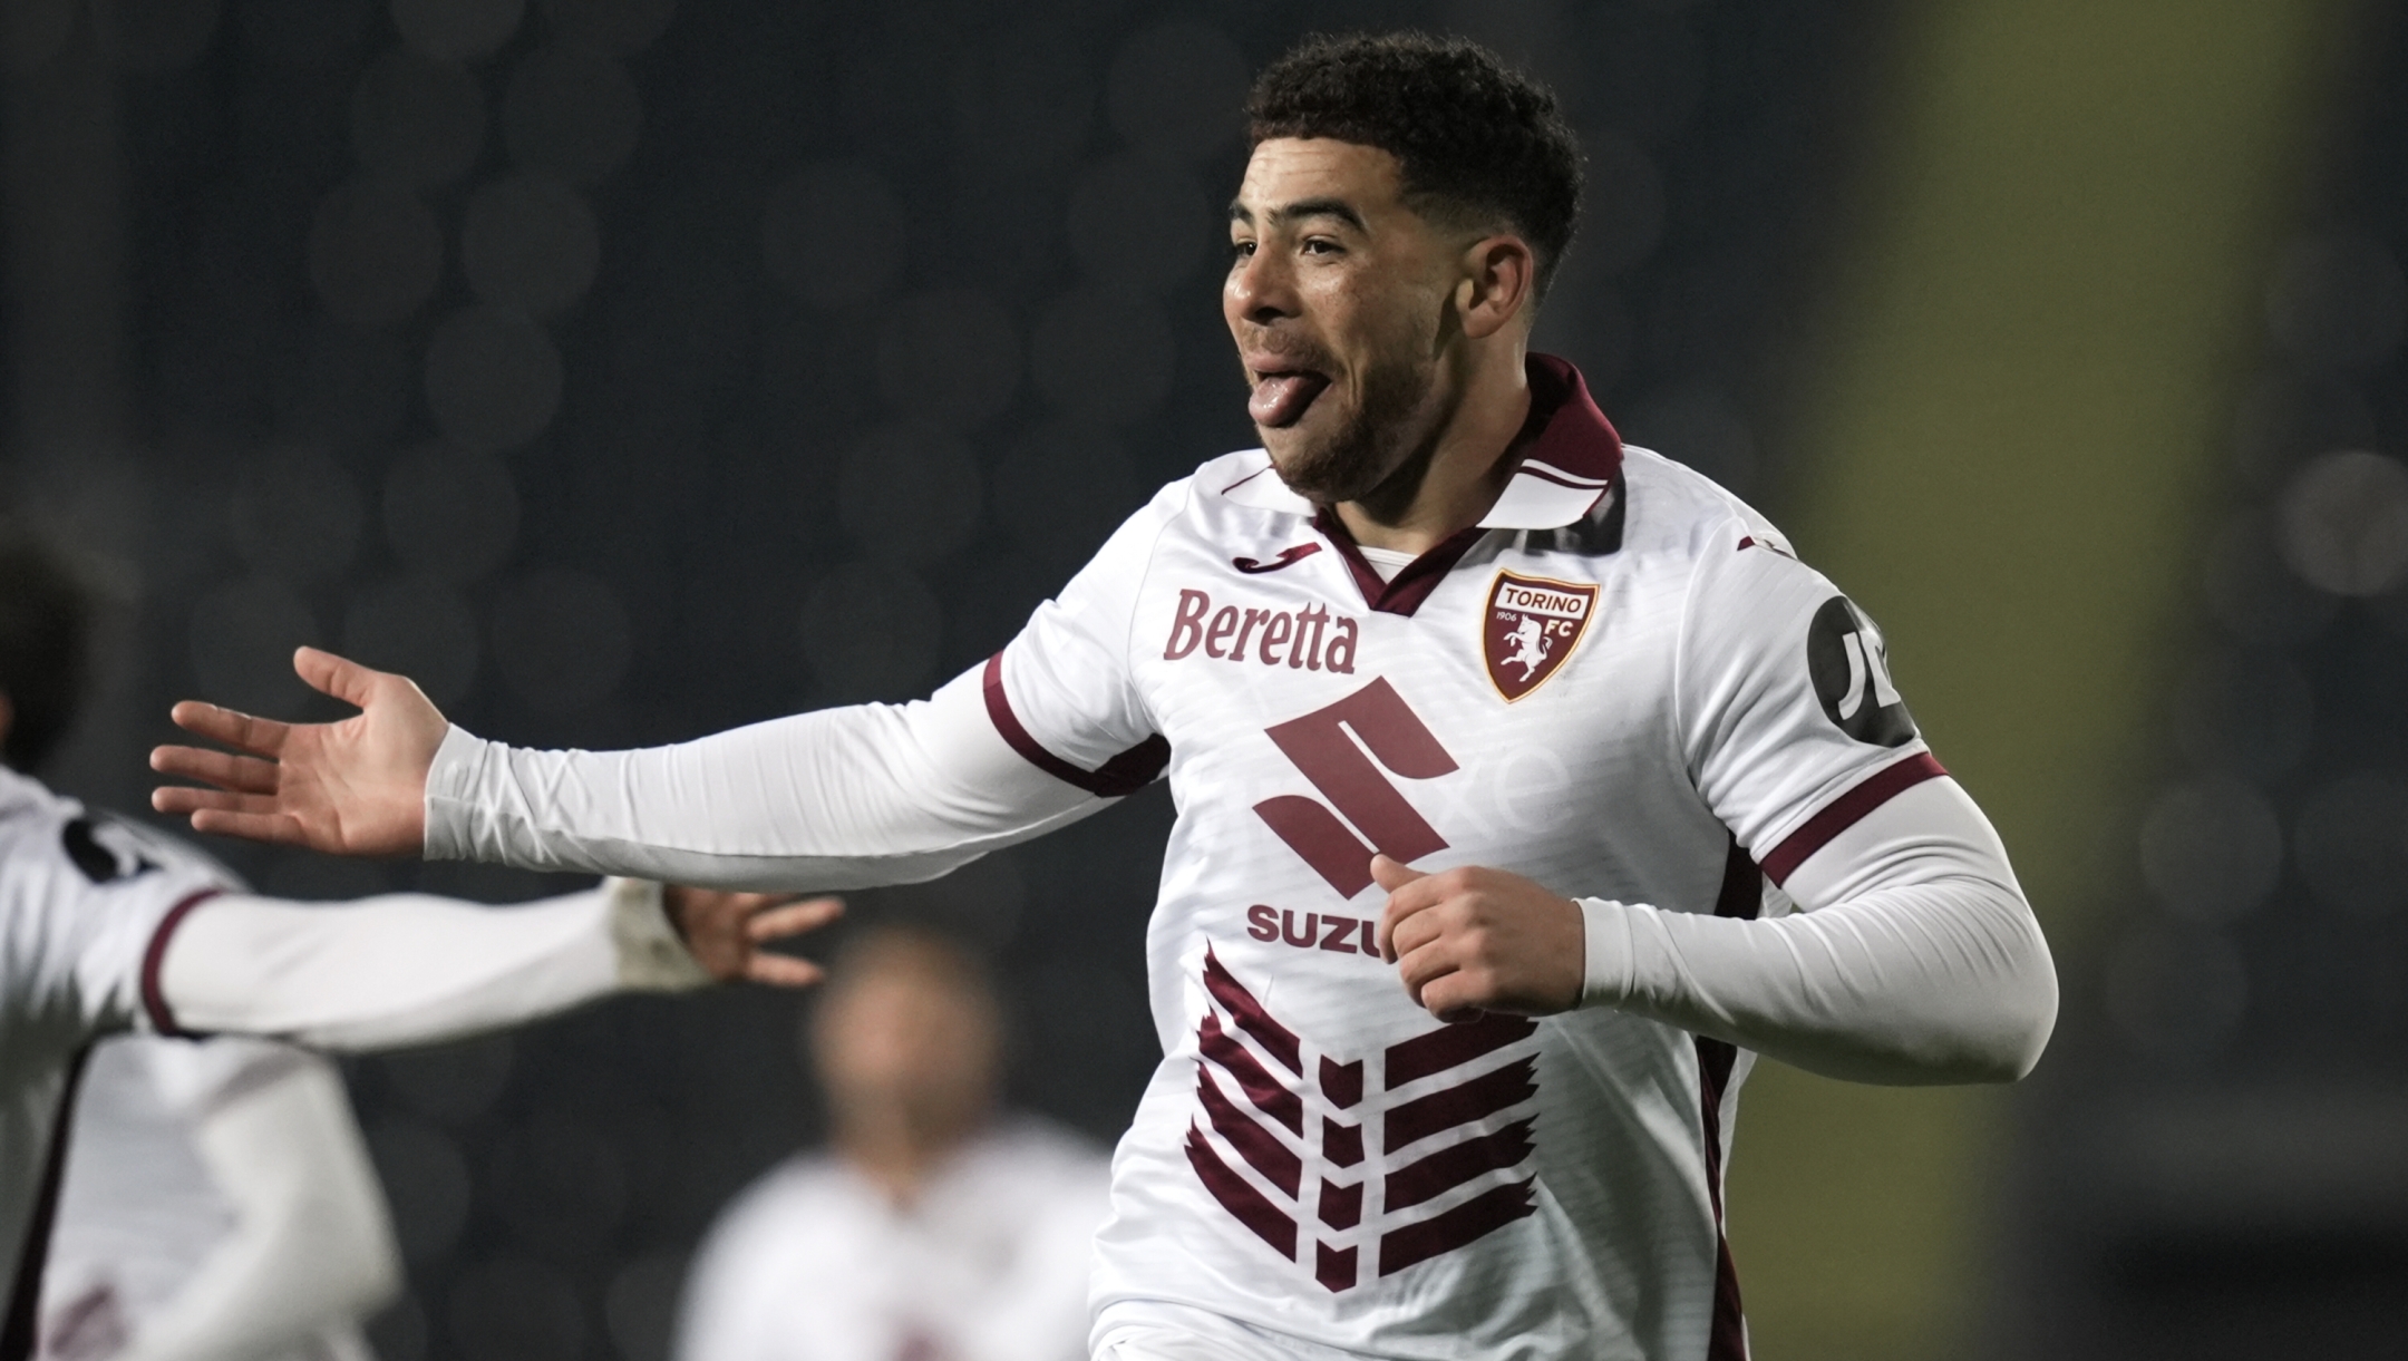
{"type": "Polygon", "coordinates": [[[1387,677],[1264,735],[1329,802],[1274,795],[1255,805],[1255,814],[1341,899],[1370,886],[1373,855],[1413,862],[1447,848],[1380,773],[1385,766],[1406,780],[1435,780],[1457,768],[1387,677]]]}

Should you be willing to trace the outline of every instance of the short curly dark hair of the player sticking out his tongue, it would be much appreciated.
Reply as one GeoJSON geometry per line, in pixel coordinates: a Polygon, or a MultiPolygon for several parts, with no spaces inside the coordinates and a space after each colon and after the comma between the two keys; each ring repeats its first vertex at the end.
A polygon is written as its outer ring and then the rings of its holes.
{"type": "Polygon", "coordinates": [[[1245,101],[1247,145],[1334,137],[1380,147],[1430,217],[1498,222],[1539,258],[1536,299],[1580,224],[1580,140],[1556,94],[1466,39],[1315,34],[1245,101]]]}

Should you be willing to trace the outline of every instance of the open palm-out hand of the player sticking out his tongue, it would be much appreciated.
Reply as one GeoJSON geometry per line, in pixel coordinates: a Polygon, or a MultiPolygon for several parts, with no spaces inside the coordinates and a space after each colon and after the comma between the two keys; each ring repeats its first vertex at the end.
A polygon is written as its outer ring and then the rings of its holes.
{"type": "Polygon", "coordinates": [[[426,771],[450,725],[409,677],[301,648],[294,672],[359,708],[340,723],[277,723],[183,701],[178,727],[231,747],[157,747],[152,807],[190,814],[193,831],[308,846],[332,855],[417,855],[426,846],[426,771]]]}

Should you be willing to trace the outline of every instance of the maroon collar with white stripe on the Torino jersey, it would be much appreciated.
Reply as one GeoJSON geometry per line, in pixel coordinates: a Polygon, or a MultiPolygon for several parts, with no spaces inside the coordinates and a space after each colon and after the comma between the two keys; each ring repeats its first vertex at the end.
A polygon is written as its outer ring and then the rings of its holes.
{"type": "Polygon", "coordinates": [[[1606,414],[1597,410],[1580,369],[1553,354],[1531,354],[1524,371],[1529,373],[1529,419],[1515,436],[1519,462],[1479,525],[1447,535],[1394,578],[1380,581],[1336,511],[1315,508],[1312,528],[1339,552],[1363,590],[1363,600],[1375,612],[1413,614],[1421,609],[1421,602],[1488,530],[1558,530],[1589,515],[1601,499],[1613,494],[1623,470],[1623,441],[1613,434],[1606,414]]]}

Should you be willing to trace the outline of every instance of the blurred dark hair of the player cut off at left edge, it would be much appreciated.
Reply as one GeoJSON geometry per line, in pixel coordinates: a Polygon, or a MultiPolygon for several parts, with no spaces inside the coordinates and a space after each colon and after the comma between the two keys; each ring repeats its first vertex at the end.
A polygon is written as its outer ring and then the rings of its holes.
{"type": "Polygon", "coordinates": [[[0,694],[14,708],[0,761],[34,771],[75,723],[89,667],[92,595],[46,544],[0,532],[0,694]]]}

